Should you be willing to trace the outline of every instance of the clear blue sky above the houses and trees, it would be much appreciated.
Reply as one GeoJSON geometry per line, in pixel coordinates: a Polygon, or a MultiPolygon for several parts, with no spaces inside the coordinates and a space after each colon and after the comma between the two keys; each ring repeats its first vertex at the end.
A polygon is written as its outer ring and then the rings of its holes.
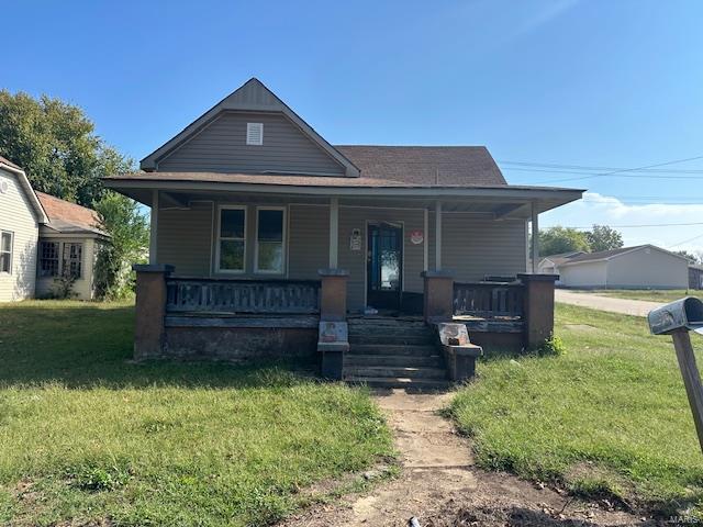
{"type": "MultiPolygon", "coordinates": [[[[136,159],[256,76],[333,144],[482,144],[511,183],[589,189],[543,226],[703,222],[681,172],[703,159],[507,162],[703,156],[696,0],[3,3],[0,87],[82,106],[136,159]]],[[[703,250],[703,225],[622,232],[703,250]]]]}

